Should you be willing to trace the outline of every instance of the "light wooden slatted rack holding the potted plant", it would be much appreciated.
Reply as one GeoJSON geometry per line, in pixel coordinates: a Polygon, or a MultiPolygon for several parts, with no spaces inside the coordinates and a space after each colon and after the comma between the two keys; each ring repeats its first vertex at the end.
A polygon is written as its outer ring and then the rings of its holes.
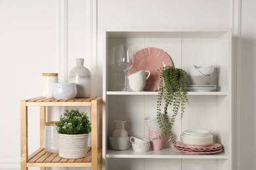
{"type": "Polygon", "coordinates": [[[21,170],[28,167],[92,167],[102,169],[102,97],[75,98],[58,100],[54,98],[35,97],[20,101],[20,133],[21,133],[21,170]],[[28,107],[40,107],[40,148],[28,156],[28,107]],[[50,153],[43,148],[45,132],[46,107],[77,106],[91,107],[91,147],[87,156],[78,159],[60,158],[58,153],[50,153]]]}

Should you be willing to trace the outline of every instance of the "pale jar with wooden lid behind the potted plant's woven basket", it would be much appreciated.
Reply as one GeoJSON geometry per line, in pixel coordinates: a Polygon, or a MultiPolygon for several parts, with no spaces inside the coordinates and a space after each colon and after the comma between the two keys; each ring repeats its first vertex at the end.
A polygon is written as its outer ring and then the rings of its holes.
{"type": "Polygon", "coordinates": [[[43,146],[47,152],[58,152],[58,131],[56,130],[56,122],[45,123],[45,137],[43,146]]]}

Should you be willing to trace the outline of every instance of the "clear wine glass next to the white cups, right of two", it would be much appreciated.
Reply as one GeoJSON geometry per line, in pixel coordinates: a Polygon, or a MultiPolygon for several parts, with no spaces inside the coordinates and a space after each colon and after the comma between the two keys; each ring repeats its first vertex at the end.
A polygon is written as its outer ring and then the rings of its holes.
{"type": "Polygon", "coordinates": [[[122,91],[131,91],[127,87],[127,73],[131,67],[133,67],[133,45],[132,44],[120,44],[118,51],[118,64],[119,67],[125,73],[125,87],[122,91]]]}

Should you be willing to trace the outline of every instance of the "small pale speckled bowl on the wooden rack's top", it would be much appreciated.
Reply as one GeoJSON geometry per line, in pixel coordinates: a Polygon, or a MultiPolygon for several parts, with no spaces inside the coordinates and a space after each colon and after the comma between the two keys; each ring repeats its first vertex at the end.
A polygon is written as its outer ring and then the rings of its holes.
{"type": "Polygon", "coordinates": [[[55,99],[74,99],[77,94],[75,83],[56,82],[53,83],[53,97],[55,99]]]}

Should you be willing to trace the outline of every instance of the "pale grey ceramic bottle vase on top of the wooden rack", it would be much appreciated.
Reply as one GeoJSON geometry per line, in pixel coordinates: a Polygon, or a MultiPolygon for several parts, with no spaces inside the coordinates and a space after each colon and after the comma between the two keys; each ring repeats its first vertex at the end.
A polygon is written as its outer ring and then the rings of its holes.
{"type": "Polygon", "coordinates": [[[75,97],[91,97],[91,72],[83,66],[83,58],[77,58],[75,61],[76,66],[70,70],[68,82],[74,82],[77,86],[77,95],[75,97]]]}

